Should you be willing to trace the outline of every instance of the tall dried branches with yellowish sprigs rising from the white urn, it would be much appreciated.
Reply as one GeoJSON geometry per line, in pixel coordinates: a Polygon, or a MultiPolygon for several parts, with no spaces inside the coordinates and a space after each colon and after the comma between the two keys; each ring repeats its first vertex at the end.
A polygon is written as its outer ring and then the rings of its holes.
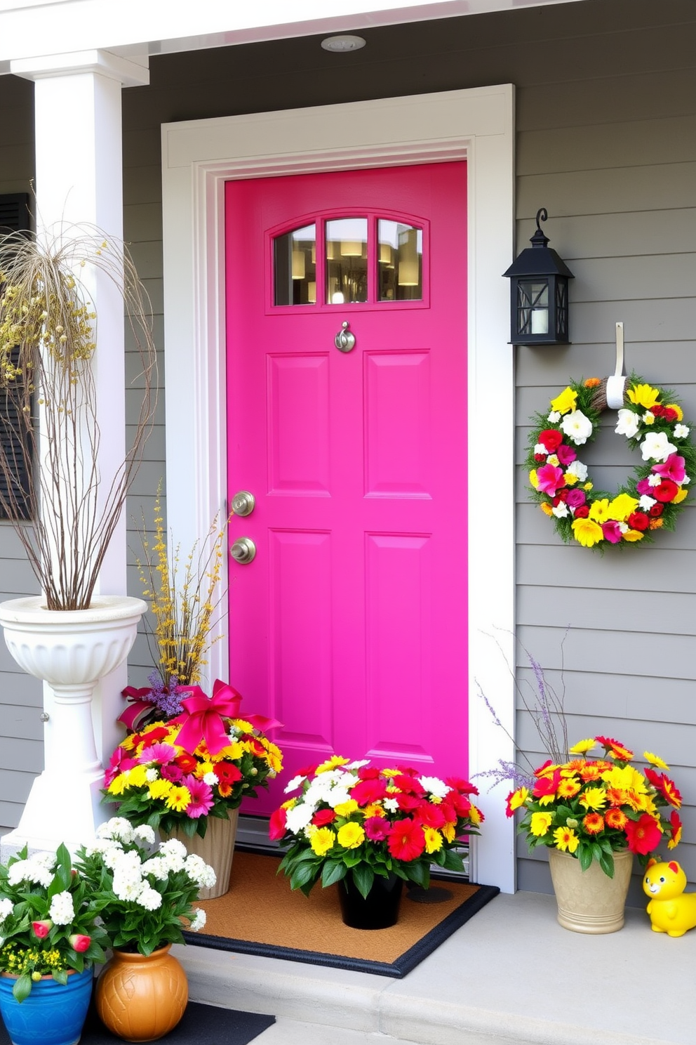
{"type": "Polygon", "coordinates": [[[70,229],[51,241],[0,237],[0,509],[48,609],[89,607],[141,463],[157,404],[150,318],[127,251],[99,229],[70,229]],[[88,289],[103,277],[123,299],[143,393],[133,440],[110,475],[99,470],[97,317],[88,289]]]}

